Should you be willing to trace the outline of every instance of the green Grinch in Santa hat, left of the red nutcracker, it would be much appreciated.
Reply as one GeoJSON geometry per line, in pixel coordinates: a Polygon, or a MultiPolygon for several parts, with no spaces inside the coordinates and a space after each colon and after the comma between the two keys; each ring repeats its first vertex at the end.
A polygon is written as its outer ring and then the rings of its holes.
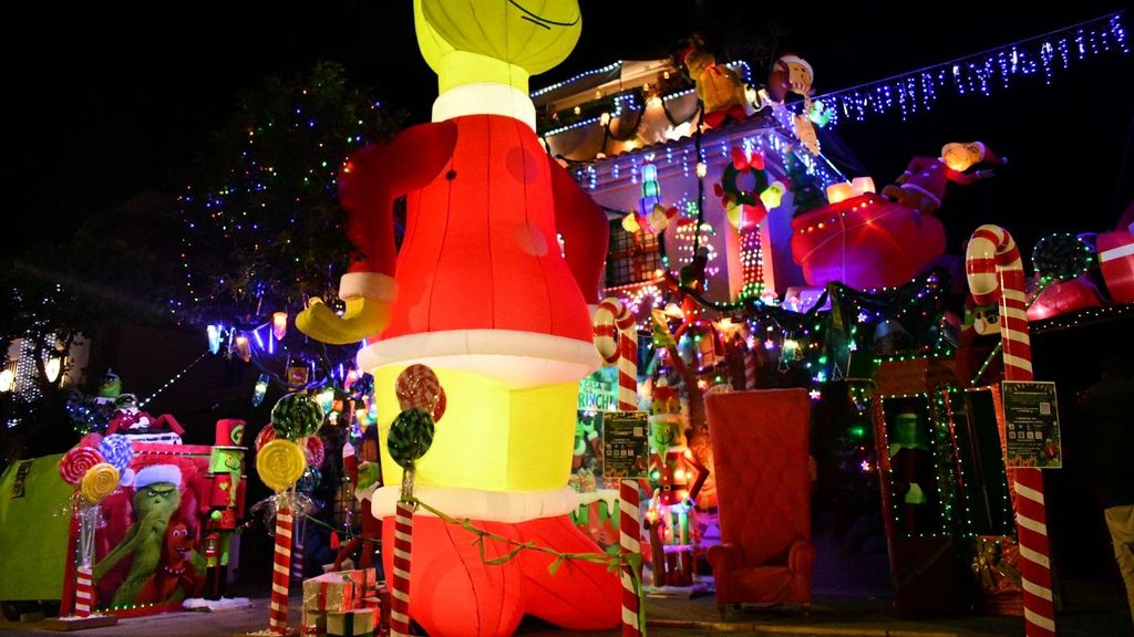
{"type": "Polygon", "coordinates": [[[137,604],[138,589],[158,569],[166,527],[181,504],[180,486],[181,469],[176,465],[151,465],[135,476],[134,515],[137,521],[130,525],[118,546],[94,567],[94,578],[101,579],[122,558],[133,553],[130,570],[115,592],[113,605],[137,604]]]}

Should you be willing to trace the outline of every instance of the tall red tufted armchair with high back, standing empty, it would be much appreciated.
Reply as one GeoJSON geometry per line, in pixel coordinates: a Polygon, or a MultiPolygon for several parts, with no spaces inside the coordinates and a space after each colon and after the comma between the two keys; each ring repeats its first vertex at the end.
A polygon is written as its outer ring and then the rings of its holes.
{"type": "Polygon", "coordinates": [[[727,604],[811,602],[811,491],[802,389],[705,397],[722,544],[706,558],[727,604]]]}

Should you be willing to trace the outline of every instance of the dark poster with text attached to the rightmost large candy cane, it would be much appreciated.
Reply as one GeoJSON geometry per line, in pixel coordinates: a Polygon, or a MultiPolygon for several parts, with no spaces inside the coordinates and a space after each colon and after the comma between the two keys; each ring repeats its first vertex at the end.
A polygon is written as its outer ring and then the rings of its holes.
{"type": "Polygon", "coordinates": [[[1008,467],[1056,469],[1063,466],[1056,384],[1004,381],[1005,441],[1008,467]]]}

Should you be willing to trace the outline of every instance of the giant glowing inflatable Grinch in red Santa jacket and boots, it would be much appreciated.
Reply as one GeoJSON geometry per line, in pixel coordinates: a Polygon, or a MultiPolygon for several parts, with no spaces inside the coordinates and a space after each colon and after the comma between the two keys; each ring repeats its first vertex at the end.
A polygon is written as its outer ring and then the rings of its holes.
{"type": "MultiPolygon", "coordinates": [[[[540,145],[531,74],[578,40],[577,2],[415,0],[417,43],[440,79],[433,121],[355,153],[339,178],[358,248],[340,282],[342,316],[313,303],[297,325],[328,342],[366,339],[384,439],[399,411],[395,379],[423,363],[448,408],[416,462],[422,501],[517,542],[598,552],[570,523],[567,486],[577,381],[600,359],[598,301],[608,240],[598,206],[540,145]],[[400,250],[393,201],[406,195],[400,250]]],[[[382,444],[373,495],[392,546],[400,468],[382,444]]],[[[483,545],[418,512],[409,612],[431,635],[509,635],[527,613],[572,629],[619,622],[619,583],[603,566],[483,545]],[[481,550],[484,550],[482,555],[481,550]]],[[[384,554],[387,572],[391,555],[384,554]]]]}

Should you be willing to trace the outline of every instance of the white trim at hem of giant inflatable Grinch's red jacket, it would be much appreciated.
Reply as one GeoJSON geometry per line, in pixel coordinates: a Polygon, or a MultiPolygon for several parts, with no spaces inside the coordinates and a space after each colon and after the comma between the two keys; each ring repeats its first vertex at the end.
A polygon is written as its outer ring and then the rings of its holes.
{"type": "Polygon", "coordinates": [[[594,343],[514,330],[450,330],[380,340],[358,353],[358,368],[422,363],[494,379],[509,389],[577,381],[599,368],[594,343]]]}

